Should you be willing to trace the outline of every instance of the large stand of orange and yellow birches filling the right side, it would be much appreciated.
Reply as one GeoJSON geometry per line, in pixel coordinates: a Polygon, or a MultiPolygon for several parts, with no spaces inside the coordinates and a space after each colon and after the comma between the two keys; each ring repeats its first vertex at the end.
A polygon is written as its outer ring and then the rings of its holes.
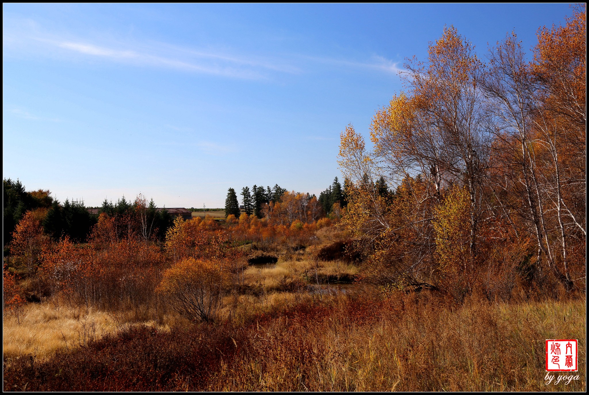
{"type": "Polygon", "coordinates": [[[583,272],[584,6],[564,27],[540,29],[531,63],[515,35],[488,59],[483,65],[454,27],[445,28],[426,62],[407,62],[408,91],[376,111],[373,150],[352,126],[342,132],[339,164],[349,180],[342,225],[365,246],[373,278],[429,282],[458,295],[485,282],[475,278],[486,265],[487,278],[492,272],[503,283],[485,288],[508,292],[514,268],[522,273],[521,262],[530,261],[528,235],[537,242],[531,265],[539,279],[542,262],[567,290],[571,262],[583,272]]]}

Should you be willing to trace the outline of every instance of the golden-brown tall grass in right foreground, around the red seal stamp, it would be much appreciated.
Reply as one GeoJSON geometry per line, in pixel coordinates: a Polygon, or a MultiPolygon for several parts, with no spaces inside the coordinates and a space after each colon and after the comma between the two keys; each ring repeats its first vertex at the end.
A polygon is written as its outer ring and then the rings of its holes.
{"type": "Polygon", "coordinates": [[[315,324],[260,327],[264,341],[225,364],[210,390],[585,390],[584,300],[443,307],[409,297],[359,324],[340,308],[315,324]],[[579,340],[579,380],[544,383],[546,338],[579,340]]]}

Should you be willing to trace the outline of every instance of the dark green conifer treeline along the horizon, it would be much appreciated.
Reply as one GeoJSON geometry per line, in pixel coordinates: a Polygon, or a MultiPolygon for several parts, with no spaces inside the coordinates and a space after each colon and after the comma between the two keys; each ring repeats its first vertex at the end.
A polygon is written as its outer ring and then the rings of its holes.
{"type": "MultiPolygon", "coordinates": [[[[347,205],[346,183],[348,183],[347,180],[342,187],[336,177],[332,185],[320,193],[317,200],[325,215],[329,215],[335,203],[339,203],[340,208],[347,205]]],[[[378,184],[380,189],[383,189],[383,194],[389,193],[384,180],[379,180],[378,184]]],[[[159,240],[165,237],[167,229],[173,223],[173,217],[166,209],[158,209],[153,200],[147,203],[141,196],[138,196],[134,202],[125,199],[124,196],[118,199],[116,203],[105,199],[101,206],[93,208],[98,209],[98,213],[90,213],[89,208],[84,205],[82,200],[70,201],[66,199],[64,202],[59,202],[59,200],[50,196],[49,190],[39,189],[27,192],[19,180],[4,179],[3,190],[4,246],[11,242],[12,232],[15,231],[16,225],[24,213],[31,210],[37,210],[39,218],[42,218],[41,223],[44,232],[51,236],[52,239],[58,240],[68,236],[74,242],[87,241],[92,227],[97,223],[98,215],[101,213],[117,219],[118,222],[127,223],[127,232],[131,228],[138,228],[138,225],[131,226],[130,223],[148,223],[148,226],[141,225],[141,233],[147,232],[148,234],[146,233],[144,236],[159,240]],[[138,209],[140,212],[137,212],[138,209]]],[[[274,187],[267,186],[266,188],[254,185],[252,189],[246,186],[241,189],[241,206],[243,206],[247,215],[262,218],[264,205],[280,202],[286,191],[285,188],[277,184],[274,187]]],[[[306,201],[314,197],[316,198],[315,195],[307,193],[306,201]]],[[[226,215],[233,214],[239,217],[241,214],[240,204],[237,193],[233,188],[230,188],[227,193],[225,205],[225,208],[201,209],[192,207],[189,210],[191,212],[225,210],[226,215]]],[[[121,230],[121,232],[123,231],[121,230]]],[[[5,253],[7,253],[6,249],[5,253]]]]}

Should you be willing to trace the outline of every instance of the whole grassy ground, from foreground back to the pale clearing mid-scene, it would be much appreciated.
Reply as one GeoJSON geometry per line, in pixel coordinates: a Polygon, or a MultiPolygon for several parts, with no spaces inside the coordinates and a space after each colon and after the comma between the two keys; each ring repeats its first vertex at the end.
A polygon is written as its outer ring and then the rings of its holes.
{"type": "Polygon", "coordinates": [[[462,304],[441,292],[383,294],[349,283],[360,266],[314,258],[336,236],[325,228],[314,248],[249,265],[216,322],[188,321],[160,299],[129,311],[29,303],[19,321],[4,317],[4,390],[585,390],[582,293],[462,304]],[[578,339],[579,367],[546,384],[551,338],[578,339]]]}

